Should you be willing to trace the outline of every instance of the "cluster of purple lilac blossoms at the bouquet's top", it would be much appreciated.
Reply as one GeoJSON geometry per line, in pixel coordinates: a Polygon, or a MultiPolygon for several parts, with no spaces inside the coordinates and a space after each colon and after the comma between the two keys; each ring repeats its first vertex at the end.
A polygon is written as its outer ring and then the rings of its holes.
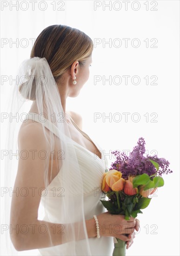
{"type": "Polygon", "coordinates": [[[129,157],[123,152],[116,150],[112,154],[116,157],[116,161],[111,164],[111,169],[118,170],[122,173],[122,178],[125,180],[128,179],[128,176],[137,176],[143,173],[147,175],[162,175],[172,173],[170,170],[169,162],[164,158],[158,158],[157,155],[147,157],[143,156],[145,154],[145,140],[141,137],[137,142],[137,146],[133,148],[133,151],[129,154],[129,157]],[[159,170],[153,166],[152,162],[149,159],[157,162],[159,164],[159,170]]]}

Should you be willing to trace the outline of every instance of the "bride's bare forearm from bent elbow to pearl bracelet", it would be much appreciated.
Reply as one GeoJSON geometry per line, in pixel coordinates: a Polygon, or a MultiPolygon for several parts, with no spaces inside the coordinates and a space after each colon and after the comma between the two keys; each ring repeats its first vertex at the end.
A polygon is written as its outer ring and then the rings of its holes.
{"type": "MultiPolygon", "coordinates": [[[[94,224],[94,219],[86,221],[88,238],[96,236],[94,224]]],[[[76,241],[85,239],[84,232],[78,232],[79,223],[73,225],[75,229],[74,236],[71,224],[59,224],[37,220],[33,222],[33,224],[12,225],[12,228],[16,227],[17,229],[12,229],[11,239],[15,249],[19,251],[56,246],[71,242],[74,239],[76,239],[76,241]],[[23,230],[23,227],[26,227],[26,231],[25,229],[23,230]]],[[[83,224],[80,223],[81,227],[82,225],[83,224]]]]}

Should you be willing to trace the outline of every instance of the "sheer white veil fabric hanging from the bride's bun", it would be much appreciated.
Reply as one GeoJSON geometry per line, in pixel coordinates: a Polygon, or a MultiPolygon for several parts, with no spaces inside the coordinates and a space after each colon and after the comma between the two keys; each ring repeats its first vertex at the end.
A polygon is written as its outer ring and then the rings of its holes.
{"type": "MultiPolygon", "coordinates": [[[[79,240],[83,240],[84,245],[81,248],[81,255],[91,255],[85,222],[83,201],[84,187],[80,171],[80,161],[77,156],[76,146],[69,132],[67,117],[61,105],[57,84],[53,78],[47,60],[45,58],[33,57],[23,61],[19,70],[19,81],[19,84],[15,85],[12,90],[12,100],[9,110],[12,116],[18,116],[19,119],[18,121],[12,120],[9,122],[7,129],[7,152],[11,150],[11,152],[16,152],[16,155],[10,159],[7,153],[7,157],[5,158],[6,172],[4,172],[3,176],[4,190],[2,196],[5,208],[2,213],[2,223],[4,225],[2,243],[6,244],[5,248],[7,251],[3,251],[2,254],[18,255],[18,251],[14,249],[11,242],[10,232],[21,232],[21,237],[24,237],[23,239],[25,239],[28,232],[33,233],[33,223],[30,225],[28,214],[25,214],[23,217],[21,227],[17,225],[16,227],[11,226],[10,209],[13,196],[22,196],[24,199],[27,198],[28,200],[29,195],[31,196],[32,193],[36,193],[36,191],[39,190],[40,196],[43,197],[45,220],[46,218],[48,220],[50,219],[49,213],[46,212],[46,205],[51,205],[53,197],[58,197],[59,205],[57,205],[57,209],[52,209],[52,212],[53,210],[58,210],[56,223],[62,224],[60,229],[54,230],[54,232],[59,232],[58,234],[60,234],[64,248],[64,251],[59,251],[58,255],[78,255],[76,242],[79,240]],[[38,112],[28,113],[27,115],[23,113],[23,106],[27,101],[32,99],[37,103],[38,112]],[[36,148],[23,150],[23,152],[18,151],[17,138],[20,126],[22,122],[28,120],[28,116],[30,115],[32,121],[35,121],[35,118],[38,118],[40,121],[40,127],[44,136],[44,146],[41,152],[36,152],[36,148]],[[49,129],[47,129],[47,125],[49,129]],[[54,128],[56,129],[56,135],[52,132],[54,128]],[[57,150],[54,150],[54,148],[57,150]],[[33,157],[37,159],[36,154],[39,157],[37,163],[40,163],[40,166],[36,165],[37,172],[42,166],[44,169],[44,187],[33,188],[33,183],[31,187],[28,187],[26,180],[22,180],[21,183],[23,186],[15,188],[14,182],[17,175],[16,167],[18,166],[17,164],[19,164],[18,161],[21,163],[26,161],[26,164],[31,166],[34,159],[33,157]],[[47,193],[47,187],[49,186],[49,177],[51,177],[53,170],[52,162],[55,163],[56,168],[60,172],[60,185],[59,189],[56,189],[56,191],[54,191],[52,187],[52,190],[49,190],[52,194],[48,195],[49,191],[47,193]],[[16,191],[16,193],[10,193],[12,190],[16,191]],[[15,228],[17,231],[14,231],[15,228]]],[[[103,169],[103,166],[101,168],[103,169]]],[[[27,177],[31,175],[30,170],[27,172],[25,169],[24,171],[27,177]]],[[[101,176],[103,176],[103,173],[101,176]]],[[[21,207],[21,205],[19,205],[19,207],[21,207]]],[[[29,207],[29,211],[31,211],[32,206],[29,207]]],[[[100,212],[102,211],[103,210],[100,209],[100,212]]],[[[42,226],[40,230],[42,236],[43,232],[44,234],[46,233],[46,235],[48,234],[51,246],[54,246],[52,230],[48,229],[46,225],[42,226]]]]}

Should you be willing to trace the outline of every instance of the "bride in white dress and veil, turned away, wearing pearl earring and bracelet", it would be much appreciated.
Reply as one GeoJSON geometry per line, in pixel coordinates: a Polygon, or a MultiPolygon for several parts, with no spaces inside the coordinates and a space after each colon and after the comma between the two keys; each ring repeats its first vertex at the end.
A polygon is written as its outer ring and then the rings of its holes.
{"type": "Polygon", "coordinates": [[[31,59],[20,67],[20,78],[25,78],[19,87],[21,105],[27,99],[33,103],[18,135],[14,189],[21,193],[12,197],[10,217],[10,225],[18,227],[11,232],[16,250],[112,255],[113,237],[127,241],[129,248],[138,230],[138,220],[105,212],[100,202],[107,168],[102,150],[81,130],[80,116],[66,110],[67,97],[78,96],[88,80],[92,51],[86,34],[53,25],[40,33],[31,59]]]}

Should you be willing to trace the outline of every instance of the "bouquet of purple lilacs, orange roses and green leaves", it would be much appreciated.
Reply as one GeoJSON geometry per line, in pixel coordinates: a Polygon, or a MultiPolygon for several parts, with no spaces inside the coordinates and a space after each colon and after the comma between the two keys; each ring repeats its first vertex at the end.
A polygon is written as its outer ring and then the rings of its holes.
{"type": "MultiPolygon", "coordinates": [[[[112,152],[116,161],[111,164],[109,171],[106,170],[102,183],[102,191],[108,200],[100,201],[110,213],[125,215],[126,220],[142,213],[141,209],[145,209],[151,201],[148,196],[164,185],[161,175],[172,173],[166,159],[157,155],[144,156],[143,138],[137,144],[129,156],[117,150],[112,152]]],[[[126,242],[119,238],[116,240],[113,256],[125,256],[126,242]]]]}

